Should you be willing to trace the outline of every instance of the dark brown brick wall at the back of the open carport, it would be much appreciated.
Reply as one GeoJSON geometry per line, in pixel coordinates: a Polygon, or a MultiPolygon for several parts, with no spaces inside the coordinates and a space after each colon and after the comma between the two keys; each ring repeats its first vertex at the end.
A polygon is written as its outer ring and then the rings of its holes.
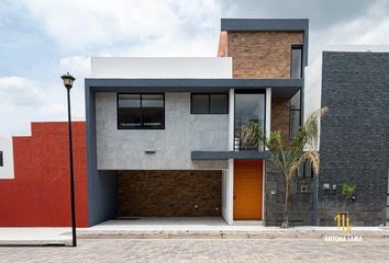
{"type": "Polygon", "coordinates": [[[222,171],[119,171],[118,216],[221,216],[222,171]]]}

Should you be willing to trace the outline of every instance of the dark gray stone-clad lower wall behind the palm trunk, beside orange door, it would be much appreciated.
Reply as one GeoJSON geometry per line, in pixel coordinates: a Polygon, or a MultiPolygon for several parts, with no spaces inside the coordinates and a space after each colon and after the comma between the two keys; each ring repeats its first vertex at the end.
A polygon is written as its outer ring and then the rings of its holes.
{"type": "MultiPolygon", "coordinates": [[[[313,179],[296,176],[290,188],[289,221],[291,226],[312,225],[313,179]],[[301,192],[307,186],[307,192],[301,192]]],[[[265,225],[280,226],[284,221],[285,178],[271,160],[266,161],[265,225]],[[271,193],[274,191],[274,193],[271,193]]]]}

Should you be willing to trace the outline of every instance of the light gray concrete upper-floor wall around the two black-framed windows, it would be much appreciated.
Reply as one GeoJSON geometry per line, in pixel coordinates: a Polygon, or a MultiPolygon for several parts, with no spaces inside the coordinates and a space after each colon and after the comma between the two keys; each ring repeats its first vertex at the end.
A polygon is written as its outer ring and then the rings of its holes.
{"type": "Polygon", "coordinates": [[[118,129],[116,93],[96,93],[96,129],[99,170],[227,168],[226,161],[191,161],[192,150],[227,150],[229,115],[190,114],[190,93],[165,94],[160,130],[118,129]]]}

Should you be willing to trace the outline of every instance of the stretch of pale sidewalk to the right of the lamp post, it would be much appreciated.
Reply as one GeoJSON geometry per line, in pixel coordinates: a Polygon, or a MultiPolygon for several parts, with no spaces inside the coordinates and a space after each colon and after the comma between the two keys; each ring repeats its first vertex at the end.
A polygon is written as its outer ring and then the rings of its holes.
{"type": "MultiPolygon", "coordinates": [[[[208,218],[200,220],[169,219],[153,220],[109,220],[97,226],[78,231],[80,238],[310,238],[321,239],[324,236],[343,235],[337,227],[265,227],[242,222],[229,226],[224,220],[208,218]]],[[[389,228],[353,227],[351,233],[368,238],[389,237],[389,228]]]]}

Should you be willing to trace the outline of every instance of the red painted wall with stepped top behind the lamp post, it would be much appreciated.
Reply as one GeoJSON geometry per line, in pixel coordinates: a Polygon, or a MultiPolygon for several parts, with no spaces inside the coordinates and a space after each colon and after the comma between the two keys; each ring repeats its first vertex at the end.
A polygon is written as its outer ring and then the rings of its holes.
{"type": "MultiPolygon", "coordinates": [[[[13,137],[14,180],[0,180],[1,227],[70,226],[67,123],[33,123],[13,137]]],[[[77,227],[88,227],[85,122],[73,123],[77,227]]]]}

